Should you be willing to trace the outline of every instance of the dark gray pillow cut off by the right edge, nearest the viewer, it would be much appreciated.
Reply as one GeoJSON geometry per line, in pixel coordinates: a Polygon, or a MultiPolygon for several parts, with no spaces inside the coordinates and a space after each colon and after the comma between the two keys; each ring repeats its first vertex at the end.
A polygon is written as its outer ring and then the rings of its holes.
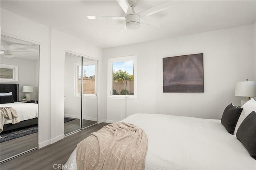
{"type": "Polygon", "coordinates": [[[236,138],[244,145],[256,160],[256,113],[252,111],[239,126],[236,138]]]}

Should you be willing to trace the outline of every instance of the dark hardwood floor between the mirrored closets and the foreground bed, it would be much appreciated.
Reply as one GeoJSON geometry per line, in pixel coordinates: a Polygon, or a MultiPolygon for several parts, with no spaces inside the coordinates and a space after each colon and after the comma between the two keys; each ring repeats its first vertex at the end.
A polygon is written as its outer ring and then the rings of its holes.
{"type": "Polygon", "coordinates": [[[54,170],[54,164],[65,164],[76,145],[108,123],[100,123],[41,149],[0,164],[2,170],[54,170]]]}

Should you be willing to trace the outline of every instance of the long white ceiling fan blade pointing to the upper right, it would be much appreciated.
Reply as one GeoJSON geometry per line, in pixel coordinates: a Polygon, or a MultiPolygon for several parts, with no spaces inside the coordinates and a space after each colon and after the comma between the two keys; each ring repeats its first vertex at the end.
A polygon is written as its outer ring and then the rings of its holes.
{"type": "Polygon", "coordinates": [[[142,12],[137,13],[141,18],[146,17],[146,16],[150,16],[152,14],[156,14],[157,12],[161,12],[163,10],[166,10],[176,4],[179,4],[180,2],[176,2],[176,1],[167,1],[164,2],[162,4],[156,5],[152,8],[148,8],[147,10],[144,10],[142,12]]]}

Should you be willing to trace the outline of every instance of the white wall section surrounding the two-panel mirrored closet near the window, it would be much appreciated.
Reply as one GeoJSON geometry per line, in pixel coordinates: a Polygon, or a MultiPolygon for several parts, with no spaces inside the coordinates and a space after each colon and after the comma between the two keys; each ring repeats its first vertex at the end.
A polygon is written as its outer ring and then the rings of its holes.
{"type": "MultiPolygon", "coordinates": [[[[76,39],[62,33],[56,29],[52,29],[51,37],[51,143],[54,143],[64,137],[64,70],[65,70],[65,50],[74,53],[86,55],[95,59],[99,59],[99,66],[102,65],[102,49],[90,43],[86,43],[80,39],[76,39]]],[[[99,72],[101,72],[101,67],[99,72]]],[[[99,84],[102,84],[101,75],[99,76],[99,84]]],[[[102,86],[102,85],[99,85],[102,86]]],[[[101,105],[102,99],[99,99],[98,105],[101,105]]],[[[99,117],[103,113],[98,111],[99,117]]],[[[101,121],[101,119],[99,120],[101,121]]]]}

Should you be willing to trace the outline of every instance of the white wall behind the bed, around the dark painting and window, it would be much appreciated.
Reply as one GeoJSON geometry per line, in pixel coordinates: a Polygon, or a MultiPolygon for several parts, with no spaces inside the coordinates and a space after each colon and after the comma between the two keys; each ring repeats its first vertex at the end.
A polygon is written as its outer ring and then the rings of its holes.
{"type": "MultiPolygon", "coordinates": [[[[107,122],[134,113],[220,119],[228,104],[240,105],[236,82],[256,79],[255,24],[104,49],[103,71],[109,58],[129,55],[138,57],[138,99],[108,99],[107,122]],[[197,53],[204,53],[204,93],[163,93],[162,58],[197,53]]],[[[104,84],[107,91],[106,77],[104,84]]]]}

